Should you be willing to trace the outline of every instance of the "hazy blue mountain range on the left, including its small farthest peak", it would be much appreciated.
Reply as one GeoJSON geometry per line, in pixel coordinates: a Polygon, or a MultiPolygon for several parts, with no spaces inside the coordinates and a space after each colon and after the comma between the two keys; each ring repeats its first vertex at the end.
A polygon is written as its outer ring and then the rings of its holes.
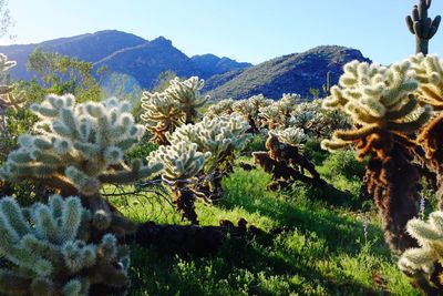
{"type": "Polygon", "coordinates": [[[164,37],[148,41],[134,34],[106,30],[37,44],[0,47],[0,52],[18,62],[18,65],[11,69],[12,79],[30,80],[34,76],[34,73],[27,72],[25,64],[29,54],[37,47],[42,51],[76,57],[92,62],[96,68],[105,65],[110,72],[122,73],[131,80],[135,79],[145,89],[152,88],[159,73],[164,71],[173,71],[179,76],[209,78],[250,65],[214,54],[188,58],[164,37]]]}

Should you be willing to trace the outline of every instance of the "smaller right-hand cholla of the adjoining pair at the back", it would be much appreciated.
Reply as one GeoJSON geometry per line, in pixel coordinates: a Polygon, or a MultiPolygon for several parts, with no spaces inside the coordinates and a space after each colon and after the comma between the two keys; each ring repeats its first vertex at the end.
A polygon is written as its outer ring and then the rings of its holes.
{"type": "Polygon", "coordinates": [[[203,106],[209,96],[200,98],[199,90],[203,89],[205,81],[197,76],[192,76],[181,81],[175,78],[171,81],[171,85],[165,92],[175,101],[177,101],[179,110],[185,113],[185,123],[193,123],[194,119],[199,116],[198,108],[203,106]]]}

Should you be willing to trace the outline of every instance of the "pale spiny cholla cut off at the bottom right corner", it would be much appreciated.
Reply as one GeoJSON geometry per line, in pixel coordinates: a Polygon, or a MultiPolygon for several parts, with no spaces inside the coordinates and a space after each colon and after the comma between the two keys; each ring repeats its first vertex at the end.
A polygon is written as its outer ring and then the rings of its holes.
{"type": "Polygon", "coordinates": [[[424,290],[440,288],[440,295],[443,274],[434,267],[435,264],[443,265],[443,212],[431,213],[427,222],[411,220],[408,222],[408,232],[419,242],[420,247],[409,248],[402,254],[400,269],[413,277],[424,290]]]}

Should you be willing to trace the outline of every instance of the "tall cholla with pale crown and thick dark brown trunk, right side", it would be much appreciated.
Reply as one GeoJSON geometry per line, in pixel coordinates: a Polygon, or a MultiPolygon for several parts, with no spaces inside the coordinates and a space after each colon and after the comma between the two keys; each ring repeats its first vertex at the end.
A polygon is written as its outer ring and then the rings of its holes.
{"type": "Polygon", "coordinates": [[[357,129],[336,131],[322,147],[334,151],[357,143],[359,159],[370,155],[368,191],[381,212],[388,242],[400,251],[414,245],[405,225],[416,215],[419,197],[419,175],[409,150],[416,144],[406,135],[423,126],[432,110],[418,106],[418,86],[409,62],[385,68],[354,61],[344,65],[339,85],[323,104],[343,110],[357,129]]]}

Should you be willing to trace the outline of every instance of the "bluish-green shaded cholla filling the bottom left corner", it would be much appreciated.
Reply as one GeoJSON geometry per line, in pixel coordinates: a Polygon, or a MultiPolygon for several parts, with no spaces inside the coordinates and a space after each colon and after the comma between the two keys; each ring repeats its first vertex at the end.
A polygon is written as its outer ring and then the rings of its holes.
{"type": "Polygon", "coordinates": [[[0,255],[10,263],[0,268],[0,292],[80,296],[127,288],[127,249],[112,234],[93,241],[91,218],[78,197],[52,195],[30,208],[0,200],[0,255]]]}

